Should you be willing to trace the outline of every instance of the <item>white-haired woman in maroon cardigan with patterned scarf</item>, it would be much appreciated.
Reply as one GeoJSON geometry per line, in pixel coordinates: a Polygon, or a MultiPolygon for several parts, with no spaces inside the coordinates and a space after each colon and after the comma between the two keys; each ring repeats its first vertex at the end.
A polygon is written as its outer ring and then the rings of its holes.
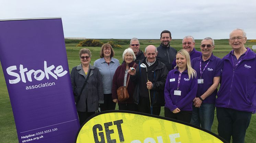
{"type": "Polygon", "coordinates": [[[112,84],[112,99],[113,102],[118,103],[119,110],[127,110],[127,111],[137,111],[137,105],[133,103],[133,91],[134,91],[134,83],[129,81],[128,83],[128,93],[129,99],[125,101],[119,101],[117,99],[117,89],[120,86],[127,86],[127,80],[130,74],[128,73],[129,68],[136,68],[138,65],[134,62],[136,59],[135,54],[133,53],[131,48],[125,49],[123,53],[123,64],[120,65],[114,74],[113,84],[112,84]],[[134,65],[135,64],[135,65],[134,65]],[[134,66],[133,66],[134,65],[134,66]]]}

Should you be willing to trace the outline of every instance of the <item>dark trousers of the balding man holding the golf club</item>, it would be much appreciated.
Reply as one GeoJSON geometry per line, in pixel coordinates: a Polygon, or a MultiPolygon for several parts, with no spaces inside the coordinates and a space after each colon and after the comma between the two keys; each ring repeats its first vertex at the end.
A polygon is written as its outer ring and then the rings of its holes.
{"type": "MultiPolygon", "coordinates": [[[[160,115],[161,106],[153,106],[153,115],[160,115]]],[[[138,104],[138,112],[151,114],[150,101],[147,97],[141,97],[138,104]]]]}

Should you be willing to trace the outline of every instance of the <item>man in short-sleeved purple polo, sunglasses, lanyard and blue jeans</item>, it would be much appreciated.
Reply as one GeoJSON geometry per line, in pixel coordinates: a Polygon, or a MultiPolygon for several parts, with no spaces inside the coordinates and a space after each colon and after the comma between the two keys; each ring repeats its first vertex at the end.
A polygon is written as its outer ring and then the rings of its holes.
{"type": "Polygon", "coordinates": [[[214,56],[214,40],[207,37],[201,41],[202,56],[191,61],[197,73],[197,95],[193,100],[193,112],[190,123],[211,131],[214,119],[217,87],[220,83],[223,61],[214,56]]]}

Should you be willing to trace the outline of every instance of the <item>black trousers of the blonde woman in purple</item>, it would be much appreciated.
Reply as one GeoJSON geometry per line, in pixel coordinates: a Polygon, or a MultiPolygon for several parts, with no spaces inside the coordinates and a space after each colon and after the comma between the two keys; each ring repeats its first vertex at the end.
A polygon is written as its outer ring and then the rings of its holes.
{"type": "Polygon", "coordinates": [[[179,113],[173,113],[170,109],[164,107],[164,117],[190,123],[192,111],[180,111],[179,113]]]}

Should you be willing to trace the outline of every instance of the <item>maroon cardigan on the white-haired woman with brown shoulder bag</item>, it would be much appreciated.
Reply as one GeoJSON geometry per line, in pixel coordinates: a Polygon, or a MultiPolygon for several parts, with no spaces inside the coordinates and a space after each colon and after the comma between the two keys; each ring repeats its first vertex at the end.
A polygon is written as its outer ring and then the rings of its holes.
{"type": "MultiPolygon", "coordinates": [[[[134,63],[135,62],[132,61],[129,64],[129,68],[132,67],[134,63]]],[[[134,68],[136,68],[137,66],[138,65],[135,64],[134,68]]],[[[113,84],[112,84],[112,99],[117,99],[117,89],[120,86],[124,86],[125,70],[126,70],[126,63],[125,62],[116,69],[116,72],[115,72],[114,77],[113,77],[113,84]]],[[[128,80],[129,76],[130,76],[130,74],[128,73],[127,77],[126,77],[127,80],[128,80]]],[[[126,101],[123,101],[123,102],[118,100],[118,103],[133,103],[133,98],[132,97],[133,97],[134,87],[135,87],[135,84],[130,79],[129,83],[128,83],[128,88],[127,88],[128,93],[129,93],[129,99],[127,99],[126,101]]]]}

